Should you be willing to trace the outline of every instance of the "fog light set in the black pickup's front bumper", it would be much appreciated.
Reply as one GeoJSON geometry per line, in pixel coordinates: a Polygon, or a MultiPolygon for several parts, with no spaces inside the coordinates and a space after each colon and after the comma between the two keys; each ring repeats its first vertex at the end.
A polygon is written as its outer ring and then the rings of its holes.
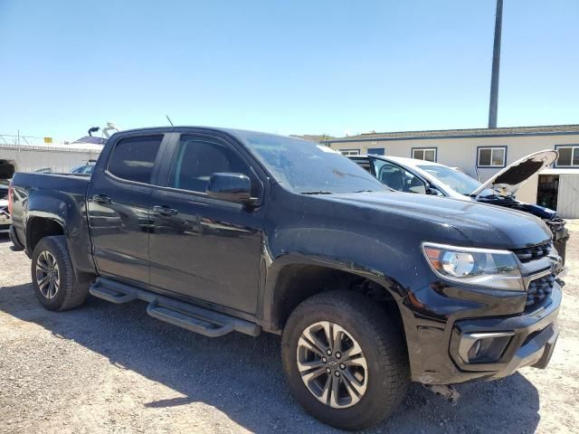
{"type": "Polygon", "coordinates": [[[466,363],[497,362],[515,332],[466,333],[460,337],[459,355],[466,363]]]}

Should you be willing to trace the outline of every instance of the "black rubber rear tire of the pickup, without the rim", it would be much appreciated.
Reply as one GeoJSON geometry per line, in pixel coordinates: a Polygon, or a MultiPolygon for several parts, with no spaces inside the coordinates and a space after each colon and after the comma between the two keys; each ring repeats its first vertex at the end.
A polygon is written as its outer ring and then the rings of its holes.
{"type": "MultiPolygon", "coordinates": [[[[43,259],[41,259],[41,263],[42,261],[43,259]]],[[[31,271],[34,293],[43,307],[48,310],[68,310],[79,307],[89,294],[88,285],[77,282],[72,268],[71,256],[66,246],[66,238],[62,235],[45,237],[36,244],[31,271]],[[38,282],[37,265],[43,252],[49,252],[56,259],[59,285],[52,297],[46,297],[43,294],[38,282]]]]}

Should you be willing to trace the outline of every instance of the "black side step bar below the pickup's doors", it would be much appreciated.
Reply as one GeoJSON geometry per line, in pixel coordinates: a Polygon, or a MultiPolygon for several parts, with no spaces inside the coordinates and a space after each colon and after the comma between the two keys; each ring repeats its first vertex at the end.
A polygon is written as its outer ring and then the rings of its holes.
{"type": "Polygon", "coordinates": [[[148,315],[208,337],[223,336],[233,331],[251,336],[261,333],[260,325],[244,319],[161,296],[109,278],[97,278],[90,286],[89,292],[94,297],[116,304],[137,299],[147,301],[148,315]]]}

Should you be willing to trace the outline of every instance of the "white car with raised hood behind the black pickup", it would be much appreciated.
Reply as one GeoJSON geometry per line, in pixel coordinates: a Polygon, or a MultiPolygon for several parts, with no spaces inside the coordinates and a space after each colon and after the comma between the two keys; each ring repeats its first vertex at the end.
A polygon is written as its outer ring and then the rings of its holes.
{"type": "MultiPolygon", "coordinates": [[[[480,183],[455,167],[432,161],[401,156],[349,156],[383,184],[397,191],[490,203],[529,212],[546,222],[553,232],[555,247],[565,263],[566,242],[569,239],[565,220],[558,217],[554,210],[517,201],[515,197],[523,184],[544,168],[553,165],[557,157],[558,153],[553,149],[534,152],[480,183]]],[[[529,254],[533,254],[533,251],[529,250],[529,254]]]]}

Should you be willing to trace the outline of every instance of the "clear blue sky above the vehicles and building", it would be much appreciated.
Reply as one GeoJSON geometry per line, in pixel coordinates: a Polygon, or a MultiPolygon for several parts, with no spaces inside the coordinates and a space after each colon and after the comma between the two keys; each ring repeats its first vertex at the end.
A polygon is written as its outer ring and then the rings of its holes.
{"type": "MultiPolygon", "coordinates": [[[[498,127],[579,123],[579,2],[504,0],[498,127]]],[[[486,127],[495,0],[0,0],[0,134],[486,127]]]]}

